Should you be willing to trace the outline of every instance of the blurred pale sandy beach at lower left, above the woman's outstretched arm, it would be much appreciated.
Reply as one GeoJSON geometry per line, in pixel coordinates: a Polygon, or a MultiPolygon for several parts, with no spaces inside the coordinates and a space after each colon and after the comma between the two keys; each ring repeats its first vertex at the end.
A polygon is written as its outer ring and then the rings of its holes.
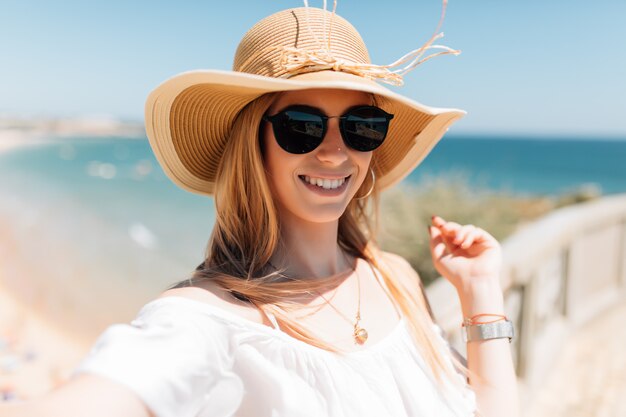
{"type": "MultiPolygon", "coordinates": [[[[40,397],[67,381],[102,331],[129,322],[143,304],[129,295],[136,293],[132,285],[112,295],[81,280],[80,272],[59,272],[71,252],[39,256],[39,247],[29,251],[28,241],[14,233],[0,217],[0,402],[40,397]]],[[[51,244],[45,234],[39,239],[51,244]]]]}

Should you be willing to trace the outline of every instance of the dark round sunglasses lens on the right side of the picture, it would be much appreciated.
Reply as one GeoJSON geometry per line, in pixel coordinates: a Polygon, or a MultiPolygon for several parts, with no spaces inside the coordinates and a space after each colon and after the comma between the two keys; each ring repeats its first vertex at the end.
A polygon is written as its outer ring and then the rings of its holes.
{"type": "Polygon", "coordinates": [[[389,129],[390,114],[378,107],[359,107],[343,119],[343,139],[353,149],[373,151],[382,145],[389,129]]]}

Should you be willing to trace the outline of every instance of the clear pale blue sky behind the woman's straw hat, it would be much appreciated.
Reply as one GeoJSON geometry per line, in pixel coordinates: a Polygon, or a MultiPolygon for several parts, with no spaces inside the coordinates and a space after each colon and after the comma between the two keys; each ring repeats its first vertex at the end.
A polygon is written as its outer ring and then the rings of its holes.
{"type": "MultiPolygon", "coordinates": [[[[254,22],[301,5],[0,0],[0,113],[141,119],[158,83],[230,69],[254,22]]],[[[439,0],[339,0],[337,11],[387,64],[430,37],[440,10],[439,0]]],[[[625,22],[624,0],[450,0],[439,43],[463,53],[418,67],[400,91],[467,110],[456,133],[626,138],[625,22]]]]}

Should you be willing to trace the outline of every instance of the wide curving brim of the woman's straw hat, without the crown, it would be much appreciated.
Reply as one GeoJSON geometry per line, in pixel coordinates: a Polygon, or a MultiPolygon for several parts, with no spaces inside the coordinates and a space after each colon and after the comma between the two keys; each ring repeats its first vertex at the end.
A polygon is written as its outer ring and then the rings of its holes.
{"type": "Polygon", "coordinates": [[[404,179],[466,112],[429,107],[377,82],[347,72],[325,70],[273,78],[236,71],[195,70],[178,74],[155,88],[146,101],[146,133],[165,173],[185,190],[215,191],[215,175],[233,121],[265,93],[332,88],[377,96],[394,114],[387,138],[374,151],[380,190],[404,179]]]}

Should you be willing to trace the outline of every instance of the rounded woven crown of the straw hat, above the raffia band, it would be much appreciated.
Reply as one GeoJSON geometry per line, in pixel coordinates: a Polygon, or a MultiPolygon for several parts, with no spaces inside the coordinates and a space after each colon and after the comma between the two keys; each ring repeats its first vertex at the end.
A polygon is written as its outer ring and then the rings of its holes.
{"type": "Polygon", "coordinates": [[[324,9],[299,7],[274,13],[252,26],[239,42],[233,70],[289,76],[290,70],[281,62],[286,48],[330,55],[337,61],[371,63],[363,38],[350,22],[324,9]]]}

